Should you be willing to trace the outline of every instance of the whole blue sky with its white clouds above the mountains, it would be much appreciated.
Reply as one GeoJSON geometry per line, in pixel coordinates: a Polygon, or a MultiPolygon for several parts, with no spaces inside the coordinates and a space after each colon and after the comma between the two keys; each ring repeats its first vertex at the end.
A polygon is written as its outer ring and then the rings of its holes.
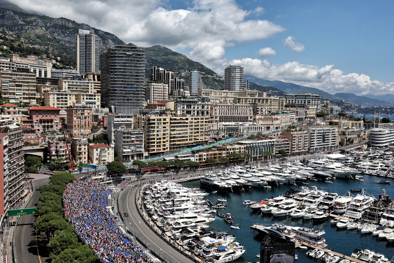
{"type": "Polygon", "coordinates": [[[163,45],[223,74],[329,93],[394,94],[392,1],[11,0],[138,45],[163,45]],[[133,41],[134,42],[134,41],[133,41]]]}

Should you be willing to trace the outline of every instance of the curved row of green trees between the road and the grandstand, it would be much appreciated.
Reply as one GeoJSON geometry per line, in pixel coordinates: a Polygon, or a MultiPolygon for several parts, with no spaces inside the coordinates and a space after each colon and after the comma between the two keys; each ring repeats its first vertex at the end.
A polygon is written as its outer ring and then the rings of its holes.
{"type": "Polygon", "coordinates": [[[46,247],[50,251],[52,263],[94,263],[98,257],[88,246],[78,242],[74,228],[63,217],[61,195],[66,184],[76,177],[68,172],[57,172],[50,177],[48,185],[40,187],[37,213],[40,215],[33,226],[37,235],[48,239],[46,247]]]}

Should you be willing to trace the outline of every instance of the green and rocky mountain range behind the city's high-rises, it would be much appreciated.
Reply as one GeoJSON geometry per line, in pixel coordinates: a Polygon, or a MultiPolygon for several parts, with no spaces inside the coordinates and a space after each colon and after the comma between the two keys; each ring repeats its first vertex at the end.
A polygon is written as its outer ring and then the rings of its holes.
{"type": "MultiPolygon", "coordinates": [[[[4,28],[26,39],[32,46],[47,48],[46,42],[57,43],[52,45],[51,50],[59,54],[76,57],[75,36],[78,29],[94,30],[99,37],[100,52],[114,45],[126,45],[116,35],[93,28],[88,24],[78,23],[67,18],[52,18],[45,15],[27,13],[6,0],[0,0],[0,28],[4,28]]],[[[133,45],[129,43],[128,45],[133,45]]],[[[189,59],[187,56],[170,50],[169,48],[155,45],[144,48],[146,53],[146,76],[149,78],[149,67],[160,65],[165,69],[171,69],[175,75],[182,77],[188,85],[188,72],[196,69],[201,72],[203,88],[221,90],[224,88],[223,77],[199,62],[189,59]]],[[[294,83],[280,80],[264,80],[256,76],[244,75],[249,80],[250,88],[267,92],[269,96],[281,96],[285,93],[314,93],[323,98],[345,100],[361,106],[394,106],[394,95],[376,96],[367,94],[358,96],[352,93],[330,94],[325,91],[300,86],[294,83]]]]}

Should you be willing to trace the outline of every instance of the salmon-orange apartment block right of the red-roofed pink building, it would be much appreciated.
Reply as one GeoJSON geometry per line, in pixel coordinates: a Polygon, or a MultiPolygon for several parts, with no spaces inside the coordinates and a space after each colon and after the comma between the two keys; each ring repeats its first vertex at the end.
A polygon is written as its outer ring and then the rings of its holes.
{"type": "Polygon", "coordinates": [[[67,130],[72,137],[90,134],[92,128],[92,108],[87,106],[67,107],[67,130]]]}

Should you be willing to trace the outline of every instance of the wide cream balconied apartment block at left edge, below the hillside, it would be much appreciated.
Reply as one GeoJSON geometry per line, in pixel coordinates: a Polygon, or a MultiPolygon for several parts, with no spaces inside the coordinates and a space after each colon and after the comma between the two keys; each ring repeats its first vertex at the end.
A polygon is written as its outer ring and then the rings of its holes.
{"type": "Polygon", "coordinates": [[[35,103],[40,99],[35,92],[35,74],[0,71],[1,98],[14,102],[35,103]]]}

